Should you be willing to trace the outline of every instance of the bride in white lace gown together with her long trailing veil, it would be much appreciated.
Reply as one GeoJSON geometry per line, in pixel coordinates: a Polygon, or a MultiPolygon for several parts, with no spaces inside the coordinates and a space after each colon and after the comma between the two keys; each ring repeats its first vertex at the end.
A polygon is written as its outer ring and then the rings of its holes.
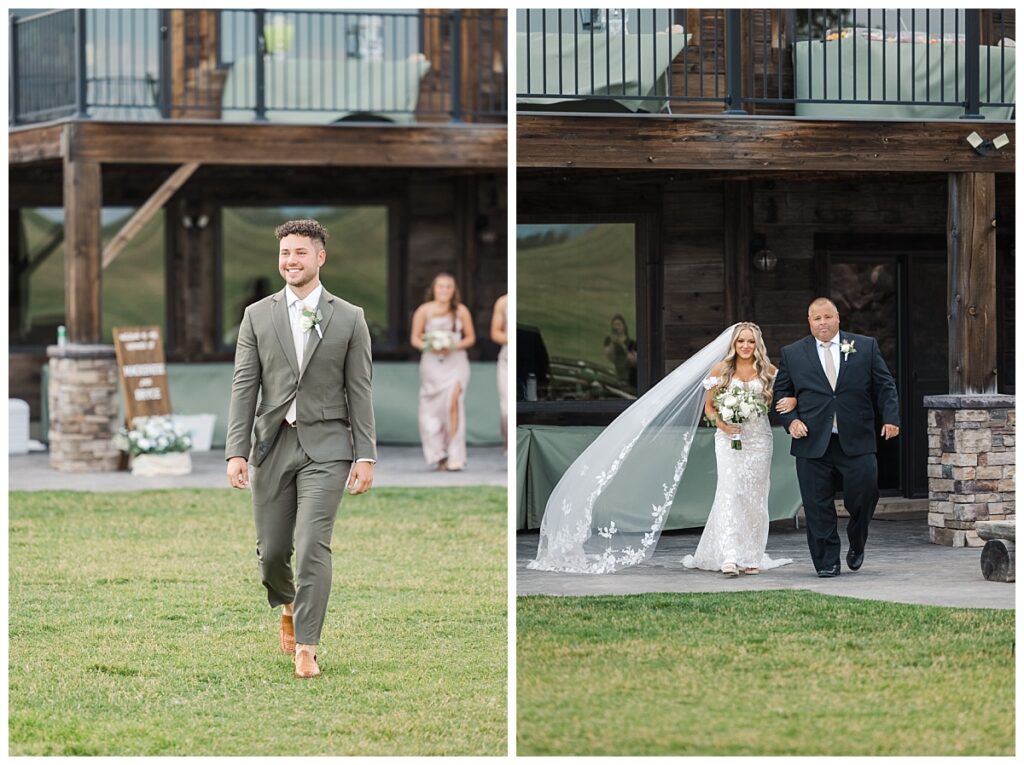
{"type": "MultiPolygon", "coordinates": [[[[726,377],[730,385],[756,379],[770,396],[774,368],[761,331],[749,323],[725,329],[616,417],[564,472],[548,497],[537,558],[527,568],[611,573],[653,556],[708,403],[703,383],[716,369],[715,376],[726,377]],[[719,366],[733,357],[732,366],[719,366]]],[[[778,406],[794,408],[796,398],[778,406]]],[[[790,562],[762,556],[772,444],[767,417],[742,427],[742,451],[729,449],[728,437],[716,434],[717,441],[725,439],[726,453],[723,459],[716,444],[719,497],[694,556],[699,567],[722,570],[731,563],[736,570],[740,565],[750,570],[790,562]],[[742,555],[730,541],[739,537],[744,538],[742,555]],[[732,547],[736,553],[727,552],[732,547]]]]}

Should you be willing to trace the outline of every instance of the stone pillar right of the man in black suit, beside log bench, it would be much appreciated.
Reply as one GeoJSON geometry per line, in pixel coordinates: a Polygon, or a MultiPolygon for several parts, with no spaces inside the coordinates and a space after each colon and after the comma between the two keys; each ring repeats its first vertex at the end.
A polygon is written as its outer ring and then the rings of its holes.
{"type": "Polygon", "coordinates": [[[975,521],[1015,520],[1012,395],[925,396],[928,408],[928,536],[980,547],[975,521]]]}

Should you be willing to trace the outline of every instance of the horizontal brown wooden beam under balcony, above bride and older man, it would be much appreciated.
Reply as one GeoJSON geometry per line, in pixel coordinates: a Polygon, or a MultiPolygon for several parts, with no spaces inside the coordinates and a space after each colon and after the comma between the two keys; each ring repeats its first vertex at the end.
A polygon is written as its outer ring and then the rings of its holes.
{"type": "Polygon", "coordinates": [[[1014,172],[1010,144],[979,157],[965,140],[976,123],[770,118],[531,116],[517,118],[520,168],[1014,172]]]}

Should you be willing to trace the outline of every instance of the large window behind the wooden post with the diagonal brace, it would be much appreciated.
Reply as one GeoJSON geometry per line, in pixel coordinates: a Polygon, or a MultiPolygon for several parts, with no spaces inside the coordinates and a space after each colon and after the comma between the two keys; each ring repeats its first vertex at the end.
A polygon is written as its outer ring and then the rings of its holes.
{"type": "MultiPolygon", "coordinates": [[[[132,208],[103,208],[105,247],[132,215],[132,208]]],[[[11,263],[12,345],[56,342],[65,315],[63,210],[22,210],[18,262],[11,263]]],[[[157,325],[164,329],[164,216],[155,215],[102,273],[102,340],[112,342],[115,327],[157,325]]]]}

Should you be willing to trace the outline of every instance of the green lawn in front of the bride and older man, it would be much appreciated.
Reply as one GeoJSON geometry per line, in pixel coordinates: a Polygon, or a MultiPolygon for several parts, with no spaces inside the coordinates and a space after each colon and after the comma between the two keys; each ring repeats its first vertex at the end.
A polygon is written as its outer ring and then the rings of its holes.
{"type": "Polygon", "coordinates": [[[520,755],[1013,755],[1014,611],[521,597],[520,755]]]}

